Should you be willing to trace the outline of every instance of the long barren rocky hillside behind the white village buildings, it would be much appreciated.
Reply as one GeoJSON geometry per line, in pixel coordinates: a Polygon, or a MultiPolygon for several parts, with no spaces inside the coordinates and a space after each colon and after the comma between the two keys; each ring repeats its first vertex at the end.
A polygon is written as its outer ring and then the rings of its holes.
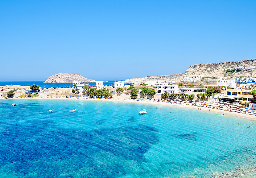
{"type": "Polygon", "coordinates": [[[175,80],[180,81],[186,77],[193,77],[193,75],[220,75],[224,79],[235,79],[240,76],[256,77],[256,70],[236,70],[239,66],[256,66],[256,59],[239,60],[233,62],[220,62],[211,64],[194,64],[191,65],[185,73],[172,75],[156,75],[142,78],[126,79],[126,81],[144,82],[151,79],[175,80]]]}

